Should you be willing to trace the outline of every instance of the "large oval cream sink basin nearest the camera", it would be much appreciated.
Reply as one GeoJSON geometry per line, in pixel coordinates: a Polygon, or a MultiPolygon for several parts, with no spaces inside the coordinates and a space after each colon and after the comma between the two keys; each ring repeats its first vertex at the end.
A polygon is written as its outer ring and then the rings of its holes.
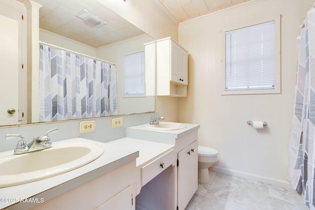
{"type": "Polygon", "coordinates": [[[0,156],[0,187],[43,180],[84,166],[104,153],[91,143],[53,143],[46,150],[0,156]]]}

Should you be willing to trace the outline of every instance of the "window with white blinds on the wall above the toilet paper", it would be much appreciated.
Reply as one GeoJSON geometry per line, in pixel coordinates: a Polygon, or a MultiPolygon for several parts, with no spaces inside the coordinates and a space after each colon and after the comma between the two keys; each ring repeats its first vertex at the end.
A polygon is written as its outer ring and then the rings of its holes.
{"type": "Polygon", "coordinates": [[[272,20],[225,31],[225,94],[279,93],[277,27],[272,20]]]}

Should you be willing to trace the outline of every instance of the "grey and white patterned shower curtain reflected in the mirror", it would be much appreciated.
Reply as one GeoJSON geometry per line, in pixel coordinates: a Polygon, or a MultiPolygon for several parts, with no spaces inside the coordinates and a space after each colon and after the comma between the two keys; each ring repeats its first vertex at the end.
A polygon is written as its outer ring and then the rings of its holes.
{"type": "Polygon", "coordinates": [[[116,66],[40,44],[39,121],[118,115],[116,66]]]}

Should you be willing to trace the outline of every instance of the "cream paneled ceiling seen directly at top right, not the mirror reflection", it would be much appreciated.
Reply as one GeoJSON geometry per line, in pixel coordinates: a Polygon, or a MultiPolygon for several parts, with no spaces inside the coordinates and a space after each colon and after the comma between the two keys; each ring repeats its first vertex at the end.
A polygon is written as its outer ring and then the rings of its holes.
{"type": "Polygon", "coordinates": [[[170,14],[183,22],[249,0],[159,0],[170,14]]]}

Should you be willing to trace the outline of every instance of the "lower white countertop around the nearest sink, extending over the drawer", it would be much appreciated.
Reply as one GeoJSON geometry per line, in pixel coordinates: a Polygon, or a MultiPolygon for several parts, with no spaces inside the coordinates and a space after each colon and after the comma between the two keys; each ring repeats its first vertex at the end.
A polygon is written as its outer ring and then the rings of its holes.
{"type": "MultiPolygon", "coordinates": [[[[104,149],[104,153],[93,162],[67,173],[44,180],[0,188],[0,198],[7,198],[11,200],[30,198],[38,193],[41,193],[58,185],[62,185],[69,180],[73,180],[76,178],[80,179],[80,176],[89,172],[92,173],[92,171],[94,171],[95,169],[102,168],[102,173],[106,173],[135,158],[136,167],[138,167],[173,148],[173,145],[160,144],[131,138],[122,138],[106,143],[91,141],[83,138],[73,138],[69,140],[59,141],[59,143],[63,142],[90,142],[101,146],[104,149]]],[[[7,152],[8,151],[0,152],[0,155],[7,152]]],[[[92,180],[98,175],[99,174],[92,174],[91,176],[89,176],[89,179],[92,180]]],[[[82,179],[84,180],[86,178],[82,179]]],[[[8,207],[14,203],[15,202],[0,202],[0,209],[8,207]]]]}

